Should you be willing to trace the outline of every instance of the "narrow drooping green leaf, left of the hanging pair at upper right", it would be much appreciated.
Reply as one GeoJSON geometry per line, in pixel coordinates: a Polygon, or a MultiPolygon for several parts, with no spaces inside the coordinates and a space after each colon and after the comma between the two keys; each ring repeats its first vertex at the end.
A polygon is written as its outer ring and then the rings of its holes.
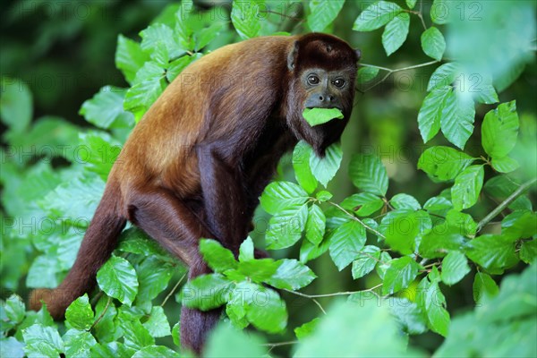
{"type": "Polygon", "coordinates": [[[418,127],[424,143],[430,141],[439,132],[442,111],[446,106],[446,98],[450,90],[449,86],[439,87],[423,99],[418,113],[418,127]]]}

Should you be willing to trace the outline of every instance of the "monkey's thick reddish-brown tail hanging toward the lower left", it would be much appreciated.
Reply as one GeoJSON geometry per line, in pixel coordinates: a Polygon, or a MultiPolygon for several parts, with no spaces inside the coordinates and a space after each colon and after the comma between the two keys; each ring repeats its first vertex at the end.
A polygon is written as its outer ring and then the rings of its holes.
{"type": "Polygon", "coordinates": [[[71,271],[57,288],[32,291],[30,309],[38,311],[43,301],[51,316],[61,320],[69,304],[95,286],[97,271],[110,258],[126,224],[126,219],[119,214],[119,198],[119,187],[108,183],[71,271]]]}

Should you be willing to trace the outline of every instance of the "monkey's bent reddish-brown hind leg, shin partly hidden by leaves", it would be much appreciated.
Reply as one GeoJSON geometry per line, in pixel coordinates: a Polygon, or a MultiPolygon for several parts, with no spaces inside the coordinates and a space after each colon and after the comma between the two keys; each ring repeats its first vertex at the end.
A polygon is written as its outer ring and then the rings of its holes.
{"type": "MultiPolygon", "coordinates": [[[[199,251],[201,237],[211,237],[192,211],[164,189],[144,190],[132,195],[129,219],[168,251],[188,264],[189,279],[211,270],[199,251]]],[[[194,293],[195,294],[195,293],[194,293]]],[[[181,345],[200,354],[210,328],[220,318],[221,309],[198,311],[183,306],[181,310],[181,345]]]]}

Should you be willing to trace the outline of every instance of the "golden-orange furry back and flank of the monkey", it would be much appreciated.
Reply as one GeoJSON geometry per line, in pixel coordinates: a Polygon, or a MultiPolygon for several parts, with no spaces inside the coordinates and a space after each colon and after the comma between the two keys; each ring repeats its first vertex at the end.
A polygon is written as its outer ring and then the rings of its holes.
{"type": "Polygon", "coordinates": [[[234,142],[229,133],[259,127],[254,120],[267,116],[281,95],[286,50],[294,39],[252,38],[187,66],[133,129],[109,181],[120,183],[124,194],[132,185],[151,183],[178,195],[200,192],[196,145],[234,142]]]}

